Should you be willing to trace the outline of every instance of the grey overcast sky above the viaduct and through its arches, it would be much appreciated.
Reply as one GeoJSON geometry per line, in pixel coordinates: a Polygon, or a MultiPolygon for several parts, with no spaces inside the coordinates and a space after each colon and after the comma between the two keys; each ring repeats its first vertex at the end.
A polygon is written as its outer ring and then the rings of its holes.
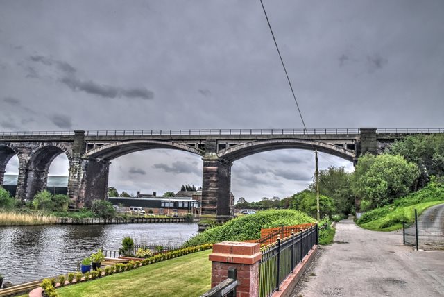
{"type": "MultiPolygon", "coordinates": [[[[307,128],[444,127],[444,1],[264,5],[307,128]]],[[[171,128],[302,128],[259,0],[0,0],[0,130],[171,128]]],[[[313,171],[310,151],[259,153],[234,162],[232,192],[283,198],[313,171]]],[[[184,183],[202,183],[196,155],[110,168],[119,192],[184,183]]]]}

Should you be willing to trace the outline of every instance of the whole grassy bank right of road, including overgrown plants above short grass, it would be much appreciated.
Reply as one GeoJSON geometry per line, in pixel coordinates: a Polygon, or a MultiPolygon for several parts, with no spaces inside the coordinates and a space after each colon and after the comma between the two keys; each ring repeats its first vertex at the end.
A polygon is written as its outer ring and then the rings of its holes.
{"type": "Polygon", "coordinates": [[[414,209],[418,210],[419,215],[427,208],[442,203],[444,203],[444,183],[430,182],[418,192],[396,199],[391,205],[366,212],[357,223],[368,230],[398,230],[402,228],[402,223],[414,221],[414,209]]]}

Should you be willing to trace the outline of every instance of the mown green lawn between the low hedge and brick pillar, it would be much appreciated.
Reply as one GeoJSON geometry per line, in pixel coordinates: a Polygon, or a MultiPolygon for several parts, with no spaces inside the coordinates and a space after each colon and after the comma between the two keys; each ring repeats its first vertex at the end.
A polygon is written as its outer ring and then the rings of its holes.
{"type": "Polygon", "coordinates": [[[78,285],[60,296],[200,296],[211,287],[212,250],[146,265],[78,285]]]}

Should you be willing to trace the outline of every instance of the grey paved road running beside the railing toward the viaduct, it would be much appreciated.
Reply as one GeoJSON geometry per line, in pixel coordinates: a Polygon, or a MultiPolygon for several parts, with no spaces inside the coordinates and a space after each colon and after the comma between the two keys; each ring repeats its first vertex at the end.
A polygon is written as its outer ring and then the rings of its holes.
{"type": "Polygon", "coordinates": [[[444,252],[413,251],[402,232],[375,232],[352,220],[336,225],[292,296],[444,296],[444,252]]]}

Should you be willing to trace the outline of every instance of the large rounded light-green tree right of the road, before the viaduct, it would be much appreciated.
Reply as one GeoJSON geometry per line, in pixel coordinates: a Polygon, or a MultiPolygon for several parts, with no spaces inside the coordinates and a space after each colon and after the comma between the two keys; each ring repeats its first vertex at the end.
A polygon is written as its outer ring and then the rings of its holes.
{"type": "Polygon", "coordinates": [[[365,211],[390,204],[395,198],[409,194],[418,176],[418,166],[400,155],[375,156],[367,153],[359,158],[355,167],[352,190],[363,200],[361,210],[365,211]]]}

